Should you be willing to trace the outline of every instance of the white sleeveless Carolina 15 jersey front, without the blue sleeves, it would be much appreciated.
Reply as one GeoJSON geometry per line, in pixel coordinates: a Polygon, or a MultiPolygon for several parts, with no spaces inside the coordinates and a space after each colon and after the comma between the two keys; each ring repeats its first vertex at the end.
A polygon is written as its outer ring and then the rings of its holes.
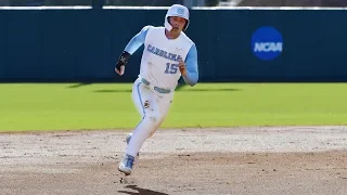
{"type": "Polygon", "coordinates": [[[150,27],[144,41],[140,76],[153,86],[175,89],[181,77],[178,60],[185,61],[192,44],[183,32],[170,40],[165,36],[164,27],[150,27]]]}

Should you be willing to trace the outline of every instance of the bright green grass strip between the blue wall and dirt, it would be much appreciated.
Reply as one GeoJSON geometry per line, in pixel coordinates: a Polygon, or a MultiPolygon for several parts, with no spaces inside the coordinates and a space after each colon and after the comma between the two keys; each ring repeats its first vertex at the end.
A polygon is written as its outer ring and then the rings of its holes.
{"type": "MultiPolygon", "coordinates": [[[[347,125],[347,83],[198,83],[163,128],[347,125]]],[[[0,83],[0,130],[131,129],[131,83],[0,83]]]]}

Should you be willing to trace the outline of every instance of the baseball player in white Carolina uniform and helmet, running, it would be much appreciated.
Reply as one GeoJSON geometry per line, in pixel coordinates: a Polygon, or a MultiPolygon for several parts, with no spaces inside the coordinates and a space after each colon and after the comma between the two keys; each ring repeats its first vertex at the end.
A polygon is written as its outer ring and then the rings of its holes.
{"type": "Polygon", "coordinates": [[[127,148],[118,170],[126,176],[133,169],[143,143],[163,123],[174,99],[178,80],[194,86],[198,79],[195,43],[183,32],[189,26],[189,10],[171,5],[162,27],[145,26],[126,46],[115,72],[124,75],[126,64],[142,44],[139,78],[132,86],[132,101],[142,120],[127,136],[127,148]]]}

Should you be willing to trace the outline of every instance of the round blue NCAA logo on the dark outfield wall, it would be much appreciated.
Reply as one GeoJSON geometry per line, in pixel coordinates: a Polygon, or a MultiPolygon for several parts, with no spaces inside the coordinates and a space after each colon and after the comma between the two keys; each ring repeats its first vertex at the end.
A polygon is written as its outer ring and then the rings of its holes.
{"type": "Polygon", "coordinates": [[[271,61],[278,57],[283,50],[283,38],[280,31],[271,26],[258,28],[252,36],[253,53],[264,60],[271,61]]]}

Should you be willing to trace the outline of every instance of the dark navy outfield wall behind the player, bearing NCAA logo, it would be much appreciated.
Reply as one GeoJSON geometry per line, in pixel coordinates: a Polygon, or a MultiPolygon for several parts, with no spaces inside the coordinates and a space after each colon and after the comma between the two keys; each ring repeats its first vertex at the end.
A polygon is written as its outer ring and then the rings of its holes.
{"type": "MultiPolygon", "coordinates": [[[[114,65],[167,8],[0,9],[0,81],[133,81],[114,65]]],[[[335,8],[192,8],[201,81],[347,81],[347,12],[335,8]]]]}

